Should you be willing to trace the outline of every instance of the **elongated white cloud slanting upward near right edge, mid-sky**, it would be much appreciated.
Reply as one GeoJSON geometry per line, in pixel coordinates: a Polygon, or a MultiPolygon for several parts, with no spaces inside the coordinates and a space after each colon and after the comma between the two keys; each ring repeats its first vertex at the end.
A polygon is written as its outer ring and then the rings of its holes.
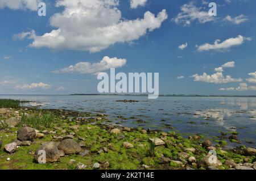
{"type": "Polygon", "coordinates": [[[245,43],[245,41],[250,41],[250,37],[243,37],[242,35],[238,35],[237,37],[232,37],[225,41],[216,40],[214,44],[205,43],[197,48],[198,51],[208,51],[208,50],[218,50],[218,51],[225,51],[230,49],[231,47],[241,45],[245,43]]]}

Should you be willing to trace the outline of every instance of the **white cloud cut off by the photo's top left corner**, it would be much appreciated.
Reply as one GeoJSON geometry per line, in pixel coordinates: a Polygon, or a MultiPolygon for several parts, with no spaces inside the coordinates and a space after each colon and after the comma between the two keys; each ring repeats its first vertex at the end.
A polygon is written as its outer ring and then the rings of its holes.
{"type": "Polygon", "coordinates": [[[32,10],[38,9],[38,0],[0,0],[0,9],[5,7],[12,10],[32,10]]]}

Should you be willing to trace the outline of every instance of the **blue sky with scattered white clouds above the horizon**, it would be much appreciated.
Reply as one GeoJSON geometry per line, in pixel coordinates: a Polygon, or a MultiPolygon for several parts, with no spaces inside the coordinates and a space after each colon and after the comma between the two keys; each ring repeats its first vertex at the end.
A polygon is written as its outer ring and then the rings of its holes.
{"type": "Polygon", "coordinates": [[[0,0],[0,94],[97,93],[109,68],[159,73],[160,94],[256,93],[253,0],[214,1],[216,17],[207,1],[26,1],[0,0]]]}

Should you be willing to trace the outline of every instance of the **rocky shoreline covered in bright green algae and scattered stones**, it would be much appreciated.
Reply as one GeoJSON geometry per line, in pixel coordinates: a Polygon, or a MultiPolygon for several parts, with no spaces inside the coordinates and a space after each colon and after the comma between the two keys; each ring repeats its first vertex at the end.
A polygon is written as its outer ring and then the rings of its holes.
{"type": "Polygon", "coordinates": [[[213,145],[201,135],[106,125],[108,115],[100,112],[5,106],[0,169],[256,169],[254,148],[226,150],[225,141],[213,145]],[[46,151],[46,164],[38,163],[39,150],[46,151]]]}

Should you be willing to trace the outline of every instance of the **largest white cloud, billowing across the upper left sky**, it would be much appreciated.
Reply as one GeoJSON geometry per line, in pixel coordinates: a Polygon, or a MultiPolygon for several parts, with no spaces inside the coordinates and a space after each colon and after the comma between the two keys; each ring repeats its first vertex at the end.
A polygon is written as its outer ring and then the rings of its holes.
{"type": "MultiPolygon", "coordinates": [[[[138,40],[160,28],[168,18],[166,10],[157,16],[150,11],[142,19],[126,20],[117,9],[117,0],[57,0],[64,11],[54,14],[50,24],[55,30],[42,36],[31,33],[34,48],[89,50],[99,52],[115,43],[138,40]]],[[[24,36],[28,36],[23,32],[24,36]]],[[[24,37],[21,36],[21,37],[24,37]]]]}

